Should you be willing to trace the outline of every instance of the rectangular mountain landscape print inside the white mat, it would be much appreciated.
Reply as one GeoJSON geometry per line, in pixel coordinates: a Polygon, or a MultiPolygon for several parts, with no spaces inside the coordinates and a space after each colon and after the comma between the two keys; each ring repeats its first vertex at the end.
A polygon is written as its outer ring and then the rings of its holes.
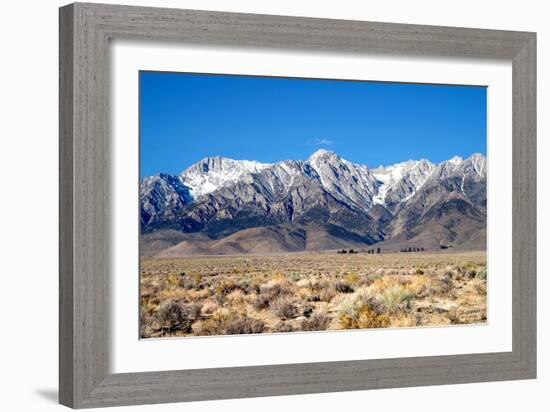
{"type": "Polygon", "coordinates": [[[141,338],[487,322],[486,87],[139,82],[141,338]]]}

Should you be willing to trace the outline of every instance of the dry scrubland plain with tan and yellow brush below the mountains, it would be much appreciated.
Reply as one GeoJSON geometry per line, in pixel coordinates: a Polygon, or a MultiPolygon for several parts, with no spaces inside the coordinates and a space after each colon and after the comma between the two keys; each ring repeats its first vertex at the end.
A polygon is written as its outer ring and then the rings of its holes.
{"type": "Polygon", "coordinates": [[[142,259],[144,338],[487,321],[482,252],[142,259]]]}

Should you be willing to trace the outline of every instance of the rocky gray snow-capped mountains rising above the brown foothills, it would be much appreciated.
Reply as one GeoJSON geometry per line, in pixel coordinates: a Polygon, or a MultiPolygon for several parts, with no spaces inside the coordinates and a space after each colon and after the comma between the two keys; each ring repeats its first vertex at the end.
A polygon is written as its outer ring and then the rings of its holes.
{"type": "Polygon", "coordinates": [[[142,179],[142,231],[170,228],[223,237],[252,227],[322,224],[359,236],[354,241],[374,243],[410,231],[411,222],[449,199],[482,215],[485,182],[481,154],[375,169],[327,150],[272,164],[217,156],[180,175],[142,179]]]}

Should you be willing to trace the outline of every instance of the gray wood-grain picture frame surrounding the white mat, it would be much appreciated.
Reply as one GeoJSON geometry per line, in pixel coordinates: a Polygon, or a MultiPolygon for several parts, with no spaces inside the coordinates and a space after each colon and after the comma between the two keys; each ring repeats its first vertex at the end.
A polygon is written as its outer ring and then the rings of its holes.
{"type": "Polygon", "coordinates": [[[89,408],[535,378],[535,105],[535,33],[103,4],[62,7],[60,402],[89,408]],[[110,374],[108,50],[113,38],[511,61],[513,350],[110,374]]]}

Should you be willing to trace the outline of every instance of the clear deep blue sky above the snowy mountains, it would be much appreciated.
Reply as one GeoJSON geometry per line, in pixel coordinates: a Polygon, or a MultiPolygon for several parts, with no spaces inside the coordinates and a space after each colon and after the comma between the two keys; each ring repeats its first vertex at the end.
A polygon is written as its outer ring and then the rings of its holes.
{"type": "Polygon", "coordinates": [[[376,167],[486,154],[486,88],[140,72],[141,176],[327,149],[376,167]]]}

